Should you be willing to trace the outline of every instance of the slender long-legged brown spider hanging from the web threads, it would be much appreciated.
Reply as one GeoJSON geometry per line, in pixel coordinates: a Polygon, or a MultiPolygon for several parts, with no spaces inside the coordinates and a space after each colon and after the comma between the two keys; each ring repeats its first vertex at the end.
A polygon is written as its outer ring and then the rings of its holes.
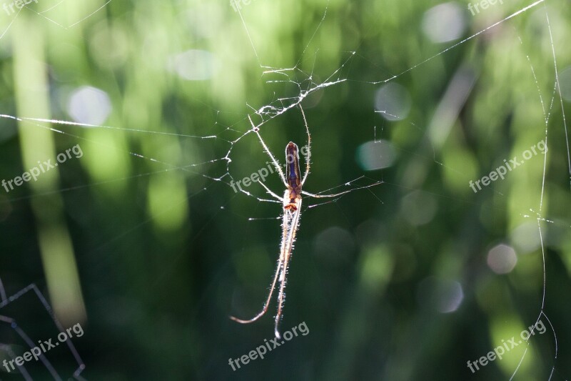
{"type": "MultiPolygon", "coordinates": [[[[271,161],[273,162],[273,166],[276,167],[276,171],[280,175],[281,180],[286,188],[283,197],[280,197],[278,196],[278,194],[272,192],[271,189],[269,189],[266,186],[266,184],[264,184],[263,182],[259,182],[261,186],[264,189],[266,189],[266,192],[268,194],[270,194],[273,198],[278,200],[277,202],[283,205],[282,236],[280,244],[280,256],[278,258],[278,266],[276,267],[276,274],[274,274],[268,298],[266,299],[266,302],[264,303],[261,312],[259,312],[258,315],[254,316],[249,320],[241,320],[233,316],[231,316],[230,318],[235,322],[239,322],[241,324],[248,324],[251,322],[255,322],[260,317],[262,317],[268,311],[268,306],[270,304],[271,297],[273,295],[274,290],[276,289],[276,283],[278,282],[279,279],[280,290],[278,292],[278,313],[276,314],[276,324],[274,326],[274,334],[278,339],[281,339],[278,326],[283,314],[283,301],[285,295],[284,290],[286,282],[285,278],[288,273],[288,265],[290,262],[291,254],[293,252],[295,234],[297,233],[299,227],[299,222],[301,217],[302,195],[314,198],[340,197],[345,193],[355,190],[355,189],[349,189],[335,194],[313,194],[302,190],[303,184],[305,184],[305,180],[308,178],[309,168],[310,168],[311,135],[309,133],[307,119],[305,119],[305,113],[303,112],[303,108],[301,107],[301,105],[300,105],[300,110],[303,116],[303,122],[305,124],[305,132],[307,132],[308,135],[308,145],[307,145],[308,149],[307,149],[307,155],[305,157],[305,173],[303,174],[303,177],[300,176],[299,149],[297,144],[289,142],[285,146],[286,166],[285,166],[285,176],[284,176],[280,164],[278,164],[278,161],[276,160],[275,157],[273,157],[273,154],[271,154],[270,149],[268,149],[268,146],[263,141],[261,134],[259,132],[259,128],[253,124],[252,119],[248,116],[250,124],[252,125],[252,131],[258,136],[258,139],[260,140],[264,151],[266,151],[266,153],[270,157],[271,161]]],[[[350,182],[347,183],[346,185],[348,184],[350,184],[350,182]]],[[[380,184],[380,182],[371,184],[367,187],[373,187],[376,184],[380,184]]],[[[366,187],[359,187],[356,189],[361,189],[361,188],[366,188],[366,187]]]]}

